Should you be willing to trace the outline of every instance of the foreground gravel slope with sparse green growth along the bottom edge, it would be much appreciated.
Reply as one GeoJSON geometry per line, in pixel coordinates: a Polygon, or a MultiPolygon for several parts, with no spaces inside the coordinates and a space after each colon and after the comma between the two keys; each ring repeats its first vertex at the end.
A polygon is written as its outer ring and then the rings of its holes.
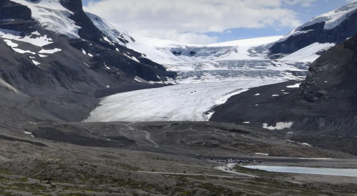
{"type": "Polygon", "coordinates": [[[357,191],[349,177],[238,167],[235,170],[258,177],[239,176],[196,157],[33,137],[2,139],[0,153],[2,195],[353,195],[357,191]]]}

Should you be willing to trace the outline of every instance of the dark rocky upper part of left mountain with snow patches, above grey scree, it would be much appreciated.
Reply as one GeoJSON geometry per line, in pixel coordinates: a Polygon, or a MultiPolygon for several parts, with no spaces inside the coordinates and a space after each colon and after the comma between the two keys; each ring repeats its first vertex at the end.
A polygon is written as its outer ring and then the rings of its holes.
{"type": "MultiPolygon", "coordinates": [[[[13,13],[1,15],[1,39],[43,70],[53,68],[49,65],[52,56],[64,56],[68,51],[62,45],[69,44],[86,59],[81,62],[88,69],[85,72],[108,74],[113,78],[112,82],[118,79],[134,81],[135,77],[165,82],[175,76],[166,72],[163,66],[144,58],[141,53],[108,43],[84,13],[80,0],[6,0],[0,6],[2,13],[13,13]],[[49,58],[41,56],[44,54],[49,58]],[[112,73],[107,73],[109,70],[112,73]]],[[[77,65],[68,66],[73,68],[77,65]]]]}

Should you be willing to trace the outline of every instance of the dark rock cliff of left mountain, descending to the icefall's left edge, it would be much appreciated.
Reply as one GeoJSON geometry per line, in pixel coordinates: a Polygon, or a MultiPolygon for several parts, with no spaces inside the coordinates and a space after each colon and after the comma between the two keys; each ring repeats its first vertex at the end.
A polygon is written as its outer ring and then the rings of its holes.
{"type": "MultiPolygon", "coordinates": [[[[60,0],[60,3],[62,6],[74,13],[74,15],[70,18],[76,22],[76,25],[81,27],[81,29],[79,30],[79,35],[82,39],[95,42],[101,45],[102,47],[110,50],[119,49],[119,52],[121,53],[129,52],[140,61],[140,63],[136,63],[131,60],[128,60],[124,55],[118,55],[117,52],[103,50],[103,48],[97,47],[95,49],[97,51],[97,54],[98,52],[101,54],[101,57],[95,57],[97,58],[97,62],[98,59],[99,62],[101,62],[101,60],[105,60],[108,64],[114,66],[119,70],[122,70],[132,78],[134,78],[135,76],[139,76],[140,78],[143,78],[148,81],[166,81],[166,77],[172,78],[176,76],[176,73],[174,72],[166,72],[166,69],[162,65],[154,63],[149,59],[143,58],[143,55],[141,53],[138,53],[131,49],[127,49],[116,43],[113,46],[111,44],[108,44],[107,42],[104,42],[102,32],[93,24],[91,19],[83,11],[83,5],[81,0],[60,0]],[[128,66],[128,64],[132,64],[132,66],[128,66]],[[158,78],[157,75],[159,75],[161,79],[158,78]]],[[[83,47],[84,46],[82,46],[81,48],[83,47]]],[[[81,48],[77,45],[77,49],[80,50],[81,48]]]]}

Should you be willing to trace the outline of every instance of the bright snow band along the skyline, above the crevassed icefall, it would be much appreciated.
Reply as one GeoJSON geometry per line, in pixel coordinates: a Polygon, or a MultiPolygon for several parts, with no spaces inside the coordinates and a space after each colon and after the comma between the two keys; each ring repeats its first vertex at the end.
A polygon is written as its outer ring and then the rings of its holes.
{"type": "Polygon", "coordinates": [[[86,14],[103,33],[106,42],[126,46],[134,51],[145,54],[146,58],[160,64],[193,63],[217,59],[262,59],[261,57],[251,57],[248,50],[252,47],[275,42],[282,37],[245,39],[212,45],[184,44],[136,35],[119,28],[97,15],[86,14]],[[174,55],[172,52],[178,52],[181,55],[174,55]]]}

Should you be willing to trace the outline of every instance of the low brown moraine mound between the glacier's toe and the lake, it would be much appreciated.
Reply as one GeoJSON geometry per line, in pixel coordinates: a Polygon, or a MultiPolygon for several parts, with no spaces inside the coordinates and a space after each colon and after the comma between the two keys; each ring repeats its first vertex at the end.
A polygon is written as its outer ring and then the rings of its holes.
{"type": "Polygon", "coordinates": [[[254,155],[349,157],[262,128],[215,122],[26,123],[21,135],[89,147],[112,147],[195,156],[254,155]]]}

